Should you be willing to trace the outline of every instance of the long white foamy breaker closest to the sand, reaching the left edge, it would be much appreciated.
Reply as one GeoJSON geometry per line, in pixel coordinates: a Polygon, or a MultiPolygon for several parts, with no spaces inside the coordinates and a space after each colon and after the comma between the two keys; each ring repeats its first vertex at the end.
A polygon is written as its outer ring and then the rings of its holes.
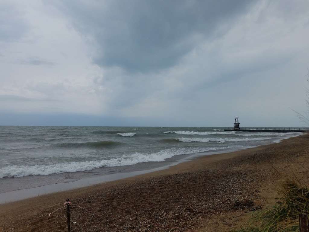
{"type": "Polygon", "coordinates": [[[181,154],[193,154],[206,152],[210,150],[224,149],[226,147],[210,147],[201,149],[167,149],[156,153],[134,153],[131,155],[123,155],[119,158],[109,160],[93,160],[82,162],[64,162],[52,165],[11,165],[0,169],[0,178],[3,177],[22,177],[33,175],[50,175],[65,172],[78,172],[93,170],[100,167],[116,167],[125,165],[134,165],[143,162],[162,162],[168,158],[181,154]]]}

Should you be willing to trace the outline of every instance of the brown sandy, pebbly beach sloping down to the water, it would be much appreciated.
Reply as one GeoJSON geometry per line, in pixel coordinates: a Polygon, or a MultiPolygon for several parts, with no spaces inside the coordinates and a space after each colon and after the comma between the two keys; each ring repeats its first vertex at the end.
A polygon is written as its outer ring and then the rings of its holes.
{"type": "Polygon", "coordinates": [[[66,231],[66,209],[61,207],[68,198],[72,231],[230,231],[240,228],[251,211],[276,202],[286,176],[308,179],[308,140],[304,134],[2,204],[0,231],[66,231]],[[253,204],[242,205],[246,200],[253,204]]]}

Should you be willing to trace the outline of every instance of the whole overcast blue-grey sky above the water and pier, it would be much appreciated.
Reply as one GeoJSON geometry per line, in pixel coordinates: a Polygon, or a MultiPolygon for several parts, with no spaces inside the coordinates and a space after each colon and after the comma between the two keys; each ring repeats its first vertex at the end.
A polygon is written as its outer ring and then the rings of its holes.
{"type": "Polygon", "coordinates": [[[1,0],[0,125],[302,127],[308,0],[1,0]]]}

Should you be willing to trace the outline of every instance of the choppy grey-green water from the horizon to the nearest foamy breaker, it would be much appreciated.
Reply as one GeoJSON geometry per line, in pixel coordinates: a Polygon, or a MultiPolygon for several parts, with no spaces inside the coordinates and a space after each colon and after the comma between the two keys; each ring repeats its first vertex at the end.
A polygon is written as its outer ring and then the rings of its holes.
{"type": "Polygon", "coordinates": [[[5,177],[163,162],[179,155],[256,146],[299,134],[223,131],[220,127],[1,126],[0,182],[5,177]]]}

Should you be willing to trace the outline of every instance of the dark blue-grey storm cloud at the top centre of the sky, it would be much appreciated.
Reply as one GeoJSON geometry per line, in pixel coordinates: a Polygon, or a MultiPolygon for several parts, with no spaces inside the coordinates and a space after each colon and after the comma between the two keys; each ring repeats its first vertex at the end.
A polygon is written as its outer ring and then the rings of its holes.
{"type": "Polygon", "coordinates": [[[175,65],[199,41],[224,33],[253,1],[88,1],[59,3],[97,43],[94,62],[130,72],[175,65]],[[221,25],[222,24],[222,25],[221,25]],[[221,28],[222,26],[222,28],[221,28]]]}

